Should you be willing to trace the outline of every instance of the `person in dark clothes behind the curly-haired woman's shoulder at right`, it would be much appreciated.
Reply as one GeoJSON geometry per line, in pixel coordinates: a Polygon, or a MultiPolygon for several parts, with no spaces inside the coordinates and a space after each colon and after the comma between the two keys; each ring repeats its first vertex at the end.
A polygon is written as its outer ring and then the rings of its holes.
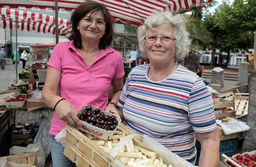
{"type": "Polygon", "coordinates": [[[195,74],[199,73],[199,65],[200,65],[200,56],[198,55],[197,51],[192,52],[192,54],[190,54],[188,56],[188,70],[194,72],[195,74]]]}

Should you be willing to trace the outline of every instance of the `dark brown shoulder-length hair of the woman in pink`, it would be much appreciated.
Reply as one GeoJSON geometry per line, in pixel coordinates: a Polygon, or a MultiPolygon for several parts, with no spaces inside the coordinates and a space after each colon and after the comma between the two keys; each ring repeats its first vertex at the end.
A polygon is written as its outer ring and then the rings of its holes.
{"type": "Polygon", "coordinates": [[[110,12],[104,6],[103,4],[99,4],[97,2],[93,1],[86,1],[81,3],[76,10],[71,15],[70,22],[72,24],[72,32],[71,35],[68,37],[68,40],[74,40],[74,45],[76,48],[82,47],[82,39],[81,34],[79,30],[77,29],[77,24],[80,22],[82,18],[88,13],[88,12],[95,12],[95,11],[102,11],[104,16],[104,21],[106,23],[106,30],[105,34],[100,39],[99,48],[105,49],[107,46],[110,46],[112,39],[113,39],[113,20],[110,12]]]}

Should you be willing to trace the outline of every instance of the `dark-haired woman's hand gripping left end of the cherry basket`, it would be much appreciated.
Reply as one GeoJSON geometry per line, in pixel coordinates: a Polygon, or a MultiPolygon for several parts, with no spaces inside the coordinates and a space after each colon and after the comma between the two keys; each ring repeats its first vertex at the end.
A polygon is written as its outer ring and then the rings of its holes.
{"type": "Polygon", "coordinates": [[[73,127],[82,127],[82,123],[77,117],[78,112],[76,111],[75,106],[68,101],[60,101],[56,105],[55,111],[62,121],[70,123],[73,127]]]}

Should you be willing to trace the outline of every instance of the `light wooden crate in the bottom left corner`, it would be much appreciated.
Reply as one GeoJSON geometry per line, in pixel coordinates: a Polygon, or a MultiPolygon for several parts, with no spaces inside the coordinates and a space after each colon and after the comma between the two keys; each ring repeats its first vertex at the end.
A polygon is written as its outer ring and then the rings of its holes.
{"type": "MultiPolygon", "coordinates": [[[[0,157],[0,161],[4,157],[0,157]]],[[[37,167],[37,153],[26,153],[20,155],[10,155],[7,156],[8,162],[18,163],[18,164],[30,164],[31,167],[37,167]]]]}

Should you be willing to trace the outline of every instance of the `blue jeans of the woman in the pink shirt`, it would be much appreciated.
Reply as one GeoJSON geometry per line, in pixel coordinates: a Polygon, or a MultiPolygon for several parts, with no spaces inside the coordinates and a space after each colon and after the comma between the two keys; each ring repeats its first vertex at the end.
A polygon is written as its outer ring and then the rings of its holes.
{"type": "Polygon", "coordinates": [[[76,164],[68,159],[64,154],[64,146],[55,140],[55,136],[52,135],[52,167],[76,167],[76,164]]]}

